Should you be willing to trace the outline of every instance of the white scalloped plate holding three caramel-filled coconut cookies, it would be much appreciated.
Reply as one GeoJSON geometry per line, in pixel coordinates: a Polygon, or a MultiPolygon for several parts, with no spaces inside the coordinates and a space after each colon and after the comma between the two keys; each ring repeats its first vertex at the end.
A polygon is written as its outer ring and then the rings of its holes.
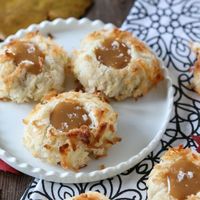
{"type": "MultiPolygon", "coordinates": [[[[56,19],[53,22],[44,21],[39,25],[31,25],[10,36],[5,42],[21,37],[26,32],[39,30],[43,34],[51,33],[59,45],[71,52],[78,48],[80,40],[88,33],[113,27],[112,24],[86,18],[56,19]]],[[[169,121],[173,89],[164,67],[163,71],[165,80],[138,101],[126,100],[112,104],[119,113],[118,133],[122,141],[109,150],[107,157],[90,161],[80,172],[74,173],[46,164],[32,157],[23,147],[22,119],[30,112],[30,104],[0,102],[0,158],[25,174],[62,183],[97,181],[131,168],[156,147],[169,121]],[[102,164],[106,168],[100,170],[99,166],[102,164]]]]}

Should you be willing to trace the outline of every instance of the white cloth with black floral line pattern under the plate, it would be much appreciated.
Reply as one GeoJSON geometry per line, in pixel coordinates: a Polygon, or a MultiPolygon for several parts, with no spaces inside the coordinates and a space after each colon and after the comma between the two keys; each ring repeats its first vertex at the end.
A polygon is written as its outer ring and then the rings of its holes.
{"type": "Polygon", "coordinates": [[[168,147],[196,147],[192,135],[199,132],[200,97],[188,85],[194,55],[189,44],[200,41],[200,1],[136,0],[122,29],[133,32],[157,53],[169,69],[174,84],[174,107],[158,147],[128,171],[103,181],[58,184],[35,179],[22,200],[64,199],[92,190],[110,199],[147,199],[145,181],[168,147]]]}

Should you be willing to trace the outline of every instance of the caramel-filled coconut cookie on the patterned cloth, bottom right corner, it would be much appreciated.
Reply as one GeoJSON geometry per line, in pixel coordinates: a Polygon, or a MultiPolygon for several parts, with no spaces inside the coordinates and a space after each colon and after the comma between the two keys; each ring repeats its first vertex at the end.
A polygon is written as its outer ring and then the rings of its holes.
{"type": "Polygon", "coordinates": [[[199,200],[200,155],[191,149],[169,149],[147,181],[149,200],[199,200]]]}

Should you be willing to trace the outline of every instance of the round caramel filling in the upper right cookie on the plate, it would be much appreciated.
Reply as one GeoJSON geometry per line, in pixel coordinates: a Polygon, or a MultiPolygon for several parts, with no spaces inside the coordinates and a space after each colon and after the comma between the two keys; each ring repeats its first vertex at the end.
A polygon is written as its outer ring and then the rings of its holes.
{"type": "Polygon", "coordinates": [[[95,50],[97,60],[105,66],[122,69],[130,62],[130,49],[123,42],[107,39],[95,50]]]}

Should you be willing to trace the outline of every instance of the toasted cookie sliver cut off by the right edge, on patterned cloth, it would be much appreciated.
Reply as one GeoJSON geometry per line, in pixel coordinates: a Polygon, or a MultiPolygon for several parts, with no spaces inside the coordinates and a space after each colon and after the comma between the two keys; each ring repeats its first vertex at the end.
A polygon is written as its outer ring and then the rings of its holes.
{"type": "Polygon", "coordinates": [[[200,43],[193,43],[192,49],[197,54],[197,60],[194,64],[194,79],[193,79],[193,87],[194,90],[200,94],[200,43]]]}

